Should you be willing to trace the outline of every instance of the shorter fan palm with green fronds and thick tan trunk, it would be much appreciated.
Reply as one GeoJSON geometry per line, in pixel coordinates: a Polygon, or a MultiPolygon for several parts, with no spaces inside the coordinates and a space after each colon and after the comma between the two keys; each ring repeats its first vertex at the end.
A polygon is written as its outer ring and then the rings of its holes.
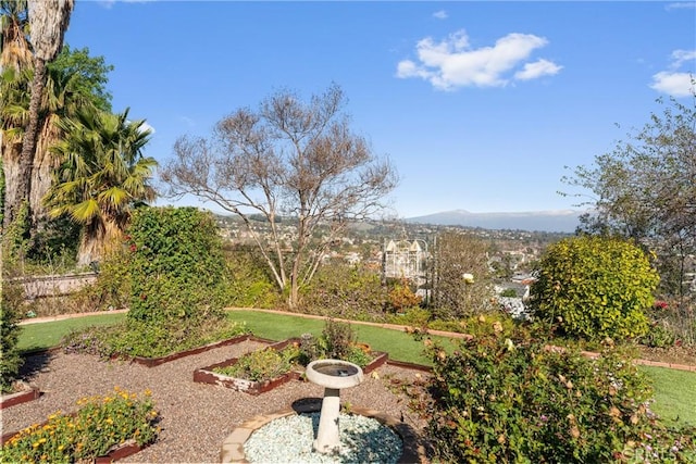
{"type": "Polygon", "coordinates": [[[142,155],[151,131],[145,121],[128,121],[128,110],[83,108],[58,125],[65,137],[52,151],[63,163],[45,202],[52,217],[83,225],[77,262],[87,265],[117,242],[135,206],[156,198],[149,179],[157,161],[142,155]]]}

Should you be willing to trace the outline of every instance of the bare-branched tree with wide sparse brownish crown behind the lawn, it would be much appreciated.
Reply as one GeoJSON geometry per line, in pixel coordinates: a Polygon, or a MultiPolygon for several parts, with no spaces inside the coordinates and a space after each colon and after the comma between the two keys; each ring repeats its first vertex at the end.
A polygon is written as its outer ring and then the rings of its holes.
{"type": "Polygon", "coordinates": [[[161,173],[171,196],[194,195],[243,220],[290,308],[346,224],[381,210],[397,183],[389,162],[351,131],[344,104],[336,85],[309,102],[278,91],[256,112],[221,120],[209,139],[179,138],[161,173]],[[266,234],[254,227],[259,214],[266,234]]]}

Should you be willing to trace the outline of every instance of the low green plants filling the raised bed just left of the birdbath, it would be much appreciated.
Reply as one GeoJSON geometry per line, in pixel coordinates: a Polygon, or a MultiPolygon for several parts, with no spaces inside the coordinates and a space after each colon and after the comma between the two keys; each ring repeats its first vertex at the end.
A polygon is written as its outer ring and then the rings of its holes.
{"type": "Polygon", "coordinates": [[[247,353],[239,358],[237,363],[216,367],[213,372],[251,381],[266,381],[291,371],[299,356],[300,348],[298,346],[289,346],[279,351],[265,348],[247,353]]]}

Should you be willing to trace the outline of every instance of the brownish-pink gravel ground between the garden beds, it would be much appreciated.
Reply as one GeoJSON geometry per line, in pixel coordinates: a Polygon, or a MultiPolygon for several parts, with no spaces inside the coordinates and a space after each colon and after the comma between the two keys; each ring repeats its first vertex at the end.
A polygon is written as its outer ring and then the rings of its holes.
{"type": "MultiPolygon", "coordinates": [[[[38,387],[41,398],[2,410],[2,432],[42,423],[55,411],[72,412],[76,401],[92,394],[109,394],[115,386],[130,392],[152,390],[161,414],[158,441],[121,462],[207,463],[220,461],[223,440],[243,422],[290,407],[303,398],[321,398],[323,388],[301,380],[290,381],[258,397],[224,387],[198,384],[194,371],[263,347],[257,341],[216,348],[157,367],[128,362],[103,362],[91,355],[52,353],[27,359],[25,380],[38,387]]],[[[341,401],[378,410],[420,430],[407,400],[388,388],[391,378],[409,380],[415,371],[385,365],[377,375],[365,376],[358,387],[341,391],[341,401]]]]}

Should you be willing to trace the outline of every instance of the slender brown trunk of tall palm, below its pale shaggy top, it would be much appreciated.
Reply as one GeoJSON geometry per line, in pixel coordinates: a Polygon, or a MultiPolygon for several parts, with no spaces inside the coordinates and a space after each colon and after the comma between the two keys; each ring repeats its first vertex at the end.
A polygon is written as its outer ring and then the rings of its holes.
{"type": "Polygon", "coordinates": [[[32,80],[32,100],[29,101],[29,124],[24,131],[22,153],[20,155],[20,173],[17,178],[17,195],[14,202],[8,202],[9,214],[5,213],[5,224],[12,222],[23,200],[28,200],[32,192],[32,166],[36,152],[36,139],[39,131],[39,109],[41,96],[46,86],[46,61],[35,60],[34,79],[32,80]],[[9,216],[9,217],[8,217],[9,216]],[[8,222],[9,221],[9,222],[8,222]]]}

